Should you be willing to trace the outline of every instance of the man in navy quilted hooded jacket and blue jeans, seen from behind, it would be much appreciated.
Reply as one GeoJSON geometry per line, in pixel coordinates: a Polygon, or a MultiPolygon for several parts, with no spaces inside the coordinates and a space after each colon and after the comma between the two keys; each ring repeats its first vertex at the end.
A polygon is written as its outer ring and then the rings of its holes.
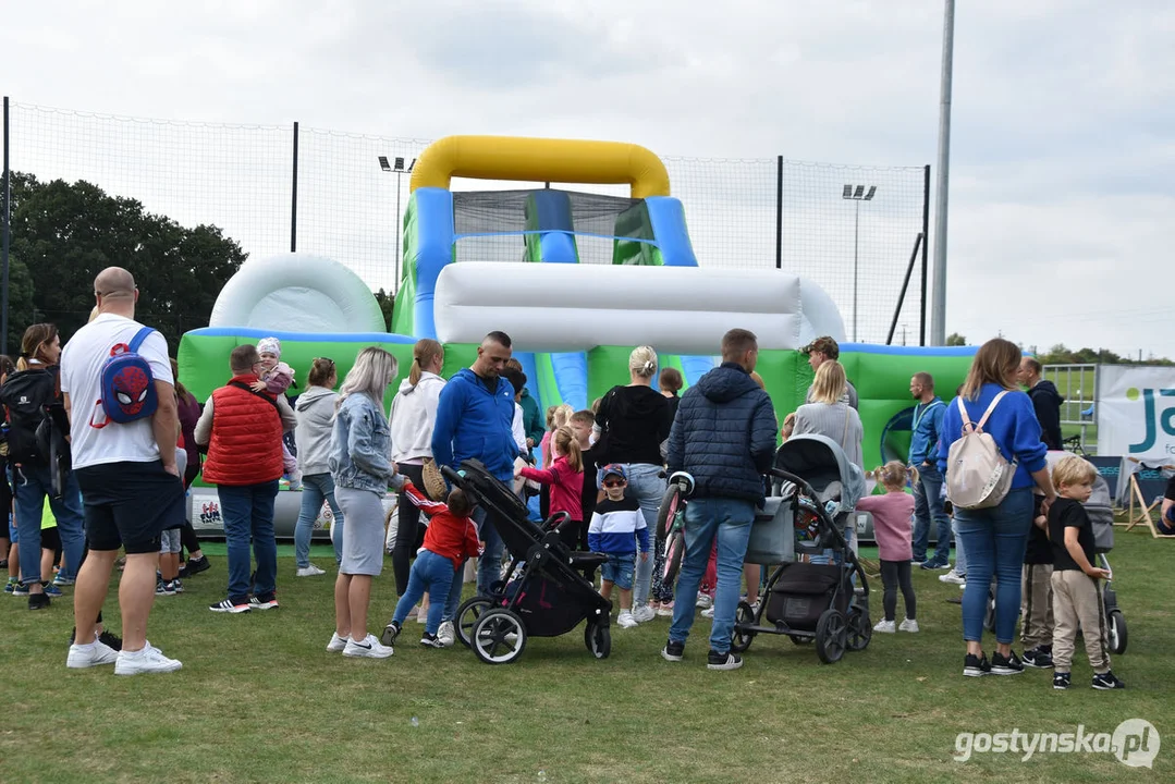
{"type": "Polygon", "coordinates": [[[673,623],[662,650],[680,662],[693,625],[698,584],[718,540],[718,588],[710,632],[711,670],[736,670],[731,630],[738,605],[756,507],[763,504],[763,475],[776,451],[776,410],[751,377],[759,356],[754,333],[732,329],[723,336],[723,363],[682,397],[669,436],[669,470],[693,476],[685,510],[685,563],[677,583],[673,623]]]}

